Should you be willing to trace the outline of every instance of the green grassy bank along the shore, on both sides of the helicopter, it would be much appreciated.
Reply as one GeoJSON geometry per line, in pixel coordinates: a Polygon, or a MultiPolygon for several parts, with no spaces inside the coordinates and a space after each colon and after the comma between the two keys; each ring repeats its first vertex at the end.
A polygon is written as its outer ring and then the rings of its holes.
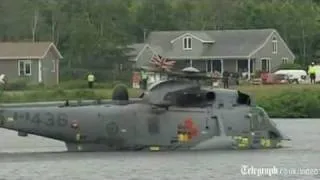
{"type": "MultiPolygon", "coordinates": [[[[85,84],[86,85],[86,84],[85,84]]],[[[74,87],[77,87],[74,85],[74,87]]],[[[86,86],[83,86],[85,88],[86,86]]],[[[39,88],[25,91],[6,91],[1,102],[55,101],[65,99],[109,99],[112,88],[100,85],[95,90],[65,87],[39,88]]],[[[279,118],[320,118],[320,86],[318,85],[264,85],[240,86],[239,90],[253,95],[258,105],[270,116],[279,118]]],[[[129,89],[130,97],[140,91],[129,89]]]]}

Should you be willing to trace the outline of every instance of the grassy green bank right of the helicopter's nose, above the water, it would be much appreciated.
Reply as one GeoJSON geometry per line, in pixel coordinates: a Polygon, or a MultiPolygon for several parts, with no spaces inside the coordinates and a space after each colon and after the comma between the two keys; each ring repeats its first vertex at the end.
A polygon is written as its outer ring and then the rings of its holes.
{"type": "Polygon", "coordinates": [[[271,117],[320,118],[319,85],[270,85],[240,88],[255,96],[271,117]]]}

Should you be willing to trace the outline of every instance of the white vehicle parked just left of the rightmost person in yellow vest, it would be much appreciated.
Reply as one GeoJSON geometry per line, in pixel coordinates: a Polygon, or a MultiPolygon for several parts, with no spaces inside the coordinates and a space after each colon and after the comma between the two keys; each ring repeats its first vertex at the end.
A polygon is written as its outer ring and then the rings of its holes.
{"type": "MultiPolygon", "coordinates": [[[[319,73],[320,73],[320,66],[319,66],[319,73]]],[[[305,70],[284,69],[284,70],[278,70],[274,74],[287,75],[290,83],[297,83],[297,84],[298,83],[306,83],[307,80],[309,79],[308,73],[305,70]]],[[[319,74],[319,77],[320,77],[320,74],[319,74]]]]}

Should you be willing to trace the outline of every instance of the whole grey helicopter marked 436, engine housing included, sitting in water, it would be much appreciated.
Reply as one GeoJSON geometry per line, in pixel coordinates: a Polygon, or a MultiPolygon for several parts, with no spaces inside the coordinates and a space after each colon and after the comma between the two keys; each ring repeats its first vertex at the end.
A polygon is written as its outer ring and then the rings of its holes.
{"type": "Polygon", "coordinates": [[[3,105],[0,127],[64,141],[68,151],[201,150],[219,137],[231,148],[262,149],[289,140],[249,95],[183,80],[159,82],[139,99],[118,86],[99,103],[3,105]]]}

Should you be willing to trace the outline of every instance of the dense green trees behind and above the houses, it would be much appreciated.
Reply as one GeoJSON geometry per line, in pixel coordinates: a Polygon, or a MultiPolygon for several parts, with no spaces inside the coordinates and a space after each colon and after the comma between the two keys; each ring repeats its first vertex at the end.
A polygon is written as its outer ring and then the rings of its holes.
{"type": "Polygon", "coordinates": [[[1,0],[0,38],[53,41],[62,69],[113,69],[151,31],[275,28],[307,64],[319,15],[319,0],[1,0]]]}

